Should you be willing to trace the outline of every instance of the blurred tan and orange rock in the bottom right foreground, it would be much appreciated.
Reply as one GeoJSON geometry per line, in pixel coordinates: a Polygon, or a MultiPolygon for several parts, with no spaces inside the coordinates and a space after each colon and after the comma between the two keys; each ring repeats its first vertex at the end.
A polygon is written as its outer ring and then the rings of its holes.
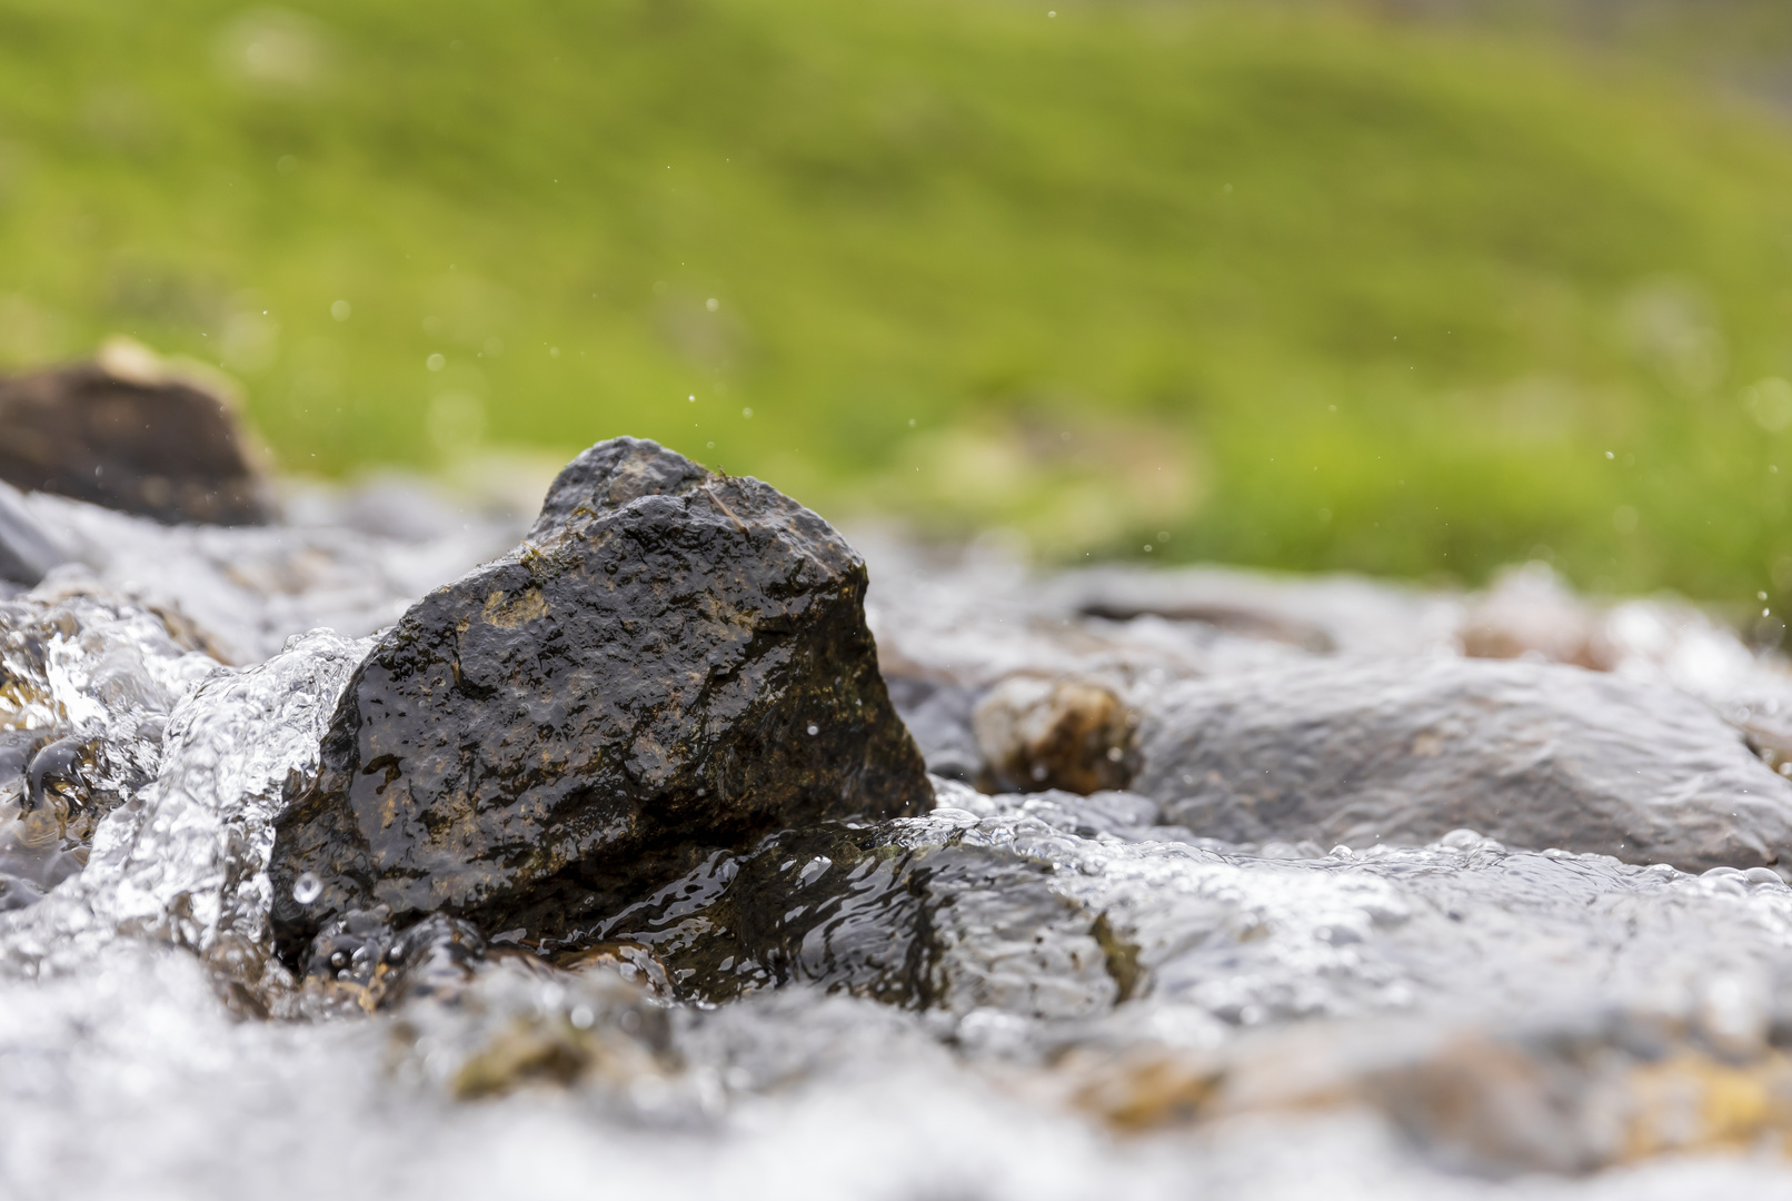
{"type": "MultiPolygon", "coordinates": [[[[1792,1056],[1593,1031],[1496,1034],[1426,1024],[1271,1031],[1213,1052],[1077,1050],[1073,1108],[1124,1133],[1240,1115],[1373,1110],[1434,1162],[1475,1172],[1590,1172],[1661,1154],[1792,1154],[1792,1056]]],[[[1647,1024],[1645,1024],[1647,1027],[1647,1024]]]]}

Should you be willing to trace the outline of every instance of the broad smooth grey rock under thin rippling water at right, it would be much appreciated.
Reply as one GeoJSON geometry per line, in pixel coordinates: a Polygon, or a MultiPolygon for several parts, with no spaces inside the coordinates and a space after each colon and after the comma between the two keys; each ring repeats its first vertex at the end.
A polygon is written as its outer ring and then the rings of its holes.
{"type": "Polygon", "coordinates": [[[1172,687],[1133,787],[1233,842],[1353,848],[1457,828],[1512,846],[1769,866],[1792,783],[1679,692],[1554,663],[1314,660],[1172,687]]]}

